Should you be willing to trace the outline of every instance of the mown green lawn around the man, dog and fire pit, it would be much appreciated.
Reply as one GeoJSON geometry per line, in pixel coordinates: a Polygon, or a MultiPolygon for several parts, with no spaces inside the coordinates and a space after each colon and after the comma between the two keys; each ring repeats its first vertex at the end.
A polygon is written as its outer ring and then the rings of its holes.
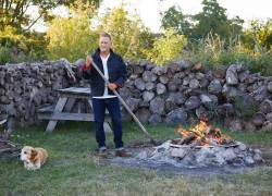
{"type": "MultiPolygon", "coordinates": [[[[157,139],[174,138],[174,127],[146,125],[157,139]]],[[[245,174],[210,176],[173,175],[149,169],[104,164],[96,148],[90,123],[62,123],[52,134],[46,124],[20,128],[12,140],[48,149],[49,161],[27,171],[18,160],[0,159],[0,195],[271,195],[272,168],[255,168],[245,174]]],[[[124,142],[147,140],[135,123],[124,124],[124,142]]],[[[227,132],[246,144],[272,148],[272,133],[227,132]]],[[[112,135],[107,144],[113,148],[112,135]]]]}

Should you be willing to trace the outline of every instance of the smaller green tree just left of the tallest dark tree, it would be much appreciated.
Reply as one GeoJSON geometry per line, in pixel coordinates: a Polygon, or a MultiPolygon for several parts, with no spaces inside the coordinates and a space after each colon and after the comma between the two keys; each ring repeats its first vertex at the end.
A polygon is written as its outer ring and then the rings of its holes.
{"type": "Polygon", "coordinates": [[[180,7],[171,7],[162,16],[162,27],[164,29],[174,28],[181,35],[190,34],[191,24],[188,22],[188,16],[184,15],[180,7]]]}

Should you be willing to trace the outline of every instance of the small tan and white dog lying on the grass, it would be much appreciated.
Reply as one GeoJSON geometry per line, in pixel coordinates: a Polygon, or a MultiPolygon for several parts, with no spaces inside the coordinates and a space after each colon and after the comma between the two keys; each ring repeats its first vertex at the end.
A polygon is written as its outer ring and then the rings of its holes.
{"type": "Polygon", "coordinates": [[[21,150],[21,160],[24,161],[24,167],[27,170],[40,169],[41,164],[46,162],[47,158],[48,152],[44,148],[24,146],[21,150]]]}

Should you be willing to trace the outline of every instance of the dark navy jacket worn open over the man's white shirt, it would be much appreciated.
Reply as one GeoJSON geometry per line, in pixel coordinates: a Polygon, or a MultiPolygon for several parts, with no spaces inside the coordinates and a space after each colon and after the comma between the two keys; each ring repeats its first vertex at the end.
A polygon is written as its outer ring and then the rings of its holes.
{"type": "MultiPolygon", "coordinates": [[[[95,51],[95,53],[91,54],[91,58],[99,68],[99,70],[103,73],[103,64],[100,58],[99,48],[95,51]]],[[[124,83],[126,81],[126,65],[123,59],[111,50],[107,65],[109,73],[109,82],[116,84],[119,88],[124,86],[124,83]]],[[[104,81],[99,75],[99,73],[96,71],[95,68],[90,68],[89,70],[83,71],[83,77],[89,79],[92,97],[103,96],[104,81]]],[[[112,90],[109,89],[109,95],[114,95],[114,94],[112,90]]]]}

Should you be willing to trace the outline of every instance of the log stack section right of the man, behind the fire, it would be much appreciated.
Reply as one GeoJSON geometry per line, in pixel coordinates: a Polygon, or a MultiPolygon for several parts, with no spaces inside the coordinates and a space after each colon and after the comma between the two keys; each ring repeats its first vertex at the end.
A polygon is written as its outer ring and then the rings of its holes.
{"type": "Polygon", "coordinates": [[[184,60],[165,66],[131,61],[127,70],[121,95],[143,122],[184,124],[205,114],[232,130],[272,127],[272,77],[242,64],[209,71],[184,60]]]}

